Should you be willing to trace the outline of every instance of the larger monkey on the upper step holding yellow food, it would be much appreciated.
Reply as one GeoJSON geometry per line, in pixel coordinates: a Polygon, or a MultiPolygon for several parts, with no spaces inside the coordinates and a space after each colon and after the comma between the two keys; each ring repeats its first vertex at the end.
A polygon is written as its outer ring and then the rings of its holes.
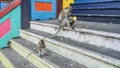
{"type": "Polygon", "coordinates": [[[63,9],[59,16],[58,16],[58,22],[60,24],[60,27],[58,29],[58,31],[54,34],[54,36],[60,31],[60,29],[64,29],[64,27],[69,27],[74,29],[73,24],[76,22],[77,17],[72,17],[71,15],[71,11],[72,11],[72,7],[69,6],[65,9],[63,9]]]}

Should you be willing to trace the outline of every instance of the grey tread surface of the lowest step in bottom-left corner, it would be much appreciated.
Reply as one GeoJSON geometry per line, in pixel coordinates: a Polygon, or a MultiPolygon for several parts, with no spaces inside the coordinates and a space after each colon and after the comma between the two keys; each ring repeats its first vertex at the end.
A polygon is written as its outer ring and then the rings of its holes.
{"type": "Polygon", "coordinates": [[[1,52],[16,68],[35,68],[33,64],[15,52],[12,48],[1,49],[1,52]]]}

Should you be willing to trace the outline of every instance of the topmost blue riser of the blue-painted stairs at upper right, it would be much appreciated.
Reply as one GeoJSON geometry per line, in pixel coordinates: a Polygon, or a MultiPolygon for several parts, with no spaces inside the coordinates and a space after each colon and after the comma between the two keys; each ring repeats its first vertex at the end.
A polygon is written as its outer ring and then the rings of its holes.
{"type": "Polygon", "coordinates": [[[104,3],[86,3],[86,4],[73,4],[72,8],[120,8],[120,2],[104,2],[104,3]]]}

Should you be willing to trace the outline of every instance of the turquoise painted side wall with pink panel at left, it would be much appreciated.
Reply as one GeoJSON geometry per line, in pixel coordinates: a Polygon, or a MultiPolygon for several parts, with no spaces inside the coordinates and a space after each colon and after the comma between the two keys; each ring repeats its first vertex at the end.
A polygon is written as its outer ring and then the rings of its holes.
{"type": "Polygon", "coordinates": [[[6,47],[13,37],[19,36],[20,6],[0,18],[0,48],[6,47]]]}

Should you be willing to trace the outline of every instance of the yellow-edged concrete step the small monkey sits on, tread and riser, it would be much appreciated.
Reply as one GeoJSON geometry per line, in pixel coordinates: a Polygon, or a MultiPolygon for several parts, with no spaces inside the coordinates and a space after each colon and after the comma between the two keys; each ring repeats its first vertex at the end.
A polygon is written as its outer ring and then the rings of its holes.
{"type": "Polygon", "coordinates": [[[38,68],[87,68],[81,64],[78,64],[77,62],[74,62],[68,58],[58,55],[50,50],[47,50],[47,56],[43,56],[43,58],[41,58],[40,56],[37,56],[37,52],[34,50],[34,48],[37,45],[23,38],[11,40],[10,45],[12,48],[17,50],[17,52],[22,54],[23,56],[25,56],[25,53],[27,54],[28,52],[28,55],[26,55],[28,57],[28,60],[32,59],[32,56],[34,55],[36,56],[33,57],[34,59],[38,58],[39,62],[41,63],[44,62],[43,65],[46,65],[45,67],[41,67],[39,63],[36,63],[35,61],[31,60],[33,64],[35,63],[39,65],[37,66],[38,68]]]}

